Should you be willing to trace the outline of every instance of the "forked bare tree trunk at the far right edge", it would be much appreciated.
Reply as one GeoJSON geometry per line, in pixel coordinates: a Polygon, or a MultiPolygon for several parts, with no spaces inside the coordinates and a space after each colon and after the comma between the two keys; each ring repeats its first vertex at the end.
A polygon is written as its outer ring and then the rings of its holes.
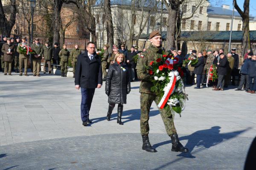
{"type": "Polygon", "coordinates": [[[242,21],[243,21],[243,51],[242,54],[244,56],[244,54],[247,52],[247,49],[250,49],[250,29],[249,29],[249,3],[250,0],[244,0],[244,11],[241,10],[241,8],[237,5],[236,0],[234,0],[235,2],[235,8],[238,11],[238,13],[240,14],[240,16],[242,17],[242,21]]]}

